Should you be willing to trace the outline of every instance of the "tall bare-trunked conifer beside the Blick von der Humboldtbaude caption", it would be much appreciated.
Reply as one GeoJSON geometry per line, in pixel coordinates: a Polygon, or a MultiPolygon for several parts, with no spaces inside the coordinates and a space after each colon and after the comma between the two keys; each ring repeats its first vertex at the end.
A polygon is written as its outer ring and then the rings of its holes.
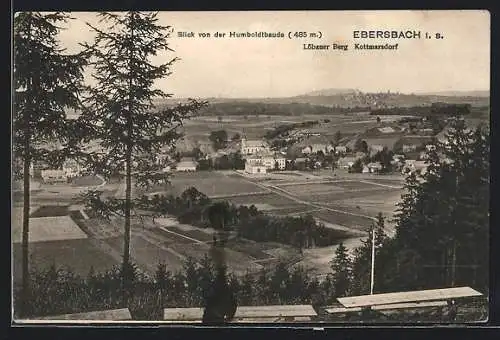
{"type": "Polygon", "coordinates": [[[168,181],[167,174],[152,158],[162,147],[175,144],[180,137],[176,128],[205,103],[190,100],[165,109],[154,107],[153,99],[171,96],[154,88],[154,83],[169,76],[177,60],[173,58],[159,66],[150,62],[158,52],[171,51],[167,42],[171,28],[158,25],[157,13],[103,12],[99,18],[107,27],[87,24],[95,33],[95,40],[91,45],[83,44],[91,55],[96,85],[89,88],[86,108],[79,119],[92,131],[82,139],[91,138],[103,149],[101,153],[89,154],[87,162],[107,177],[124,176],[125,198],[103,202],[99,193],[90,192],[87,202],[100,203],[109,213],[124,217],[125,267],[130,262],[132,178],[140,186],[168,181]]]}

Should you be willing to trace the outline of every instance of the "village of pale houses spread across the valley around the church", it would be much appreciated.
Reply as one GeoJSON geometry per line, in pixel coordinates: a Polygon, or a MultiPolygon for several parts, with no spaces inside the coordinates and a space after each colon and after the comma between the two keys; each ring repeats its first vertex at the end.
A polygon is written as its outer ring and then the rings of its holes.
{"type": "MultiPolygon", "coordinates": [[[[380,122],[380,117],[370,118],[375,127],[345,137],[339,131],[325,138],[323,133],[317,132],[322,124],[315,121],[316,129],[294,128],[272,139],[247,139],[237,133],[233,138],[221,141],[219,147],[205,141],[197,142],[192,150],[168,148],[156,156],[156,161],[164,166],[166,173],[233,169],[244,170],[247,174],[266,174],[328,169],[404,175],[415,171],[425,173],[426,159],[435,149],[434,144],[446,142],[447,129],[436,131],[425,124],[425,118],[405,117],[388,123],[380,122]],[[283,144],[286,146],[280,147],[283,144]],[[239,163],[224,162],[225,165],[214,167],[221,158],[228,159],[236,154],[241,159],[239,163]],[[386,157],[382,159],[382,155],[386,157]]],[[[76,161],[67,160],[59,169],[50,169],[43,163],[34,164],[31,174],[49,184],[68,182],[89,172],[76,161]]]]}

